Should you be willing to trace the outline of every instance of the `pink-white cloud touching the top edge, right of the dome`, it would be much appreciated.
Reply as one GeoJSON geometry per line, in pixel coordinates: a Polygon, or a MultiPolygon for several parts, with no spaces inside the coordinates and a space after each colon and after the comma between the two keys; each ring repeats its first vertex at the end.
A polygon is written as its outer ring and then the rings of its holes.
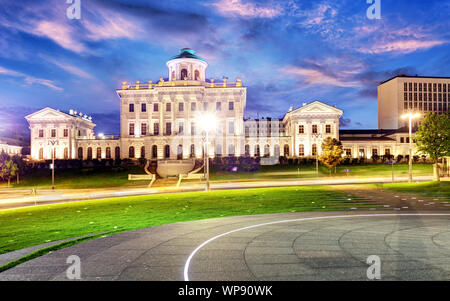
{"type": "Polygon", "coordinates": [[[225,16],[241,16],[246,18],[273,18],[282,14],[278,6],[262,7],[254,3],[243,3],[241,0],[219,0],[211,4],[225,16]]]}

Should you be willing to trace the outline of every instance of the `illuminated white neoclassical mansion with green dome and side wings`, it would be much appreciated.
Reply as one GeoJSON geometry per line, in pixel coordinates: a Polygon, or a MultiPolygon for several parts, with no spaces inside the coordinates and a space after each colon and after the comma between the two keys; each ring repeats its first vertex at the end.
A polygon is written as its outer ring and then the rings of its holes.
{"type": "Polygon", "coordinates": [[[199,118],[212,114],[217,127],[209,137],[209,156],[314,157],[325,138],[343,142],[345,154],[406,155],[408,133],[392,130],[339,130],[343,111],[320,101],[290,108],[281,119],[244,119],[247,89],[240,78],[208,79],[208,64],[184,48],[167,62],[168,77],[158,82],[123,82],[120,136],[94,134],[83,113],[44,108],[26,116],[31,158],[186,159],[203,157],[204,129],[199,118]]]}

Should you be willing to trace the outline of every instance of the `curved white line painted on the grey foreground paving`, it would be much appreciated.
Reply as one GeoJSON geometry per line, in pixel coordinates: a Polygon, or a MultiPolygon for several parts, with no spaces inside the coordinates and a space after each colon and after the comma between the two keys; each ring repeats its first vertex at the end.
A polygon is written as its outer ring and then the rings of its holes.
{"type": "Polygon", "coordinates": [[[228,234],[248,230],[256,227],[261,226],[267,226],[267,225],[274,225],[274,224],[282,224],[282,223],[290,223],[290,222],[298,222],[298,221],[310,221],[310,220],[318,220],[318,219],[332,219],[332,218],[350,218],[350,217],[373,217],[373,216],[450,216],[450,213],[401,213],[401,214],[355,214],[355,215],[331,215],[331,216],[318,216],[318,217],[304,217],[304,218],[297,218],[297,219],[288,219],[288,220],[281,220],[281,221],[274,221],[274,222],[268,222],[263,224],[257,224],[252,226],[247,226],[243,228],[238,228],[235,230],[231,230],[216,236],[211,237],[210,239],[202,242],[197,248],[192,251],[192,253],[189,255],[188,259],[186,260],[186,263],[184,264],[184,281],[189,281],[189,265],[191,263],[192,258],[194,258],[194,255],[204,246],[212,242],[213,240],[216,240],[220,237],[226,236],[228,234]]]}

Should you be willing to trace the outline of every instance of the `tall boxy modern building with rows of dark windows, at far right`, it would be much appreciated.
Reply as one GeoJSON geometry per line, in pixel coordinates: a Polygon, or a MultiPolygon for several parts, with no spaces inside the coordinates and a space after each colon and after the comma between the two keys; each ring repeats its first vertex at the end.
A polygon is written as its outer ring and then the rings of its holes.
{"type": "MultiPolygon", "coordinates": [[[[408,126],[401,116],[414,111],[422,117],[429,112],[450,112],[450,78],[396,76],[378,86],[378,128],[408,126]]],[[[417,125],[420,119],[415,120],[417,125]]]]}

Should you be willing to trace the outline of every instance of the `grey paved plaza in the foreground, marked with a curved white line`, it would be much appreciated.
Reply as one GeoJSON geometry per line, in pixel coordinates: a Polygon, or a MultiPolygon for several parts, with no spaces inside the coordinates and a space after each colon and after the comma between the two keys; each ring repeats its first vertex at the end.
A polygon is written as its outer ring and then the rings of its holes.
{"type": "Polygon", "coordinates": [[[309,212],[176,223],[68,247],[0,273],[0,280],[450,280],[450,213],[309,212]]]}

